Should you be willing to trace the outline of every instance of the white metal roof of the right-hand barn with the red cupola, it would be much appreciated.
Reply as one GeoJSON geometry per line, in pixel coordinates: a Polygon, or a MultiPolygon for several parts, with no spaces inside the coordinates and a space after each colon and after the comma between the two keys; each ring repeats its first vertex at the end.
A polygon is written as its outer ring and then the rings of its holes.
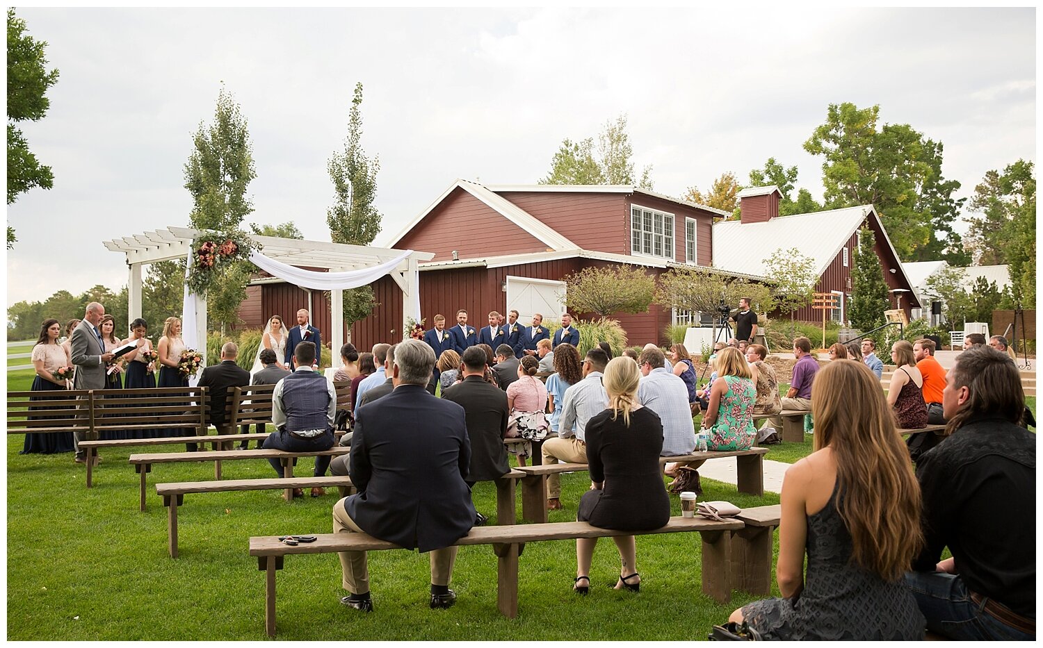
{"type": "MultiPolygon", "coordinates": [[[[713,266],[733,272],[765,276],[763,259],[778,249],[797,248],[815,260],[816,274],[826,271],[848,240],[868,218],[876,219],[873,205],[858,205],[828,211],[811,211],[796,216],[777,216],[767,223],[723,221],[713,223],[713,266]]],[[[887,231],[883,242],[891,248],[887,231]]],[[[854,250],[850,250],[854,252],[854,250]]],[[[897,271],[905,276],[902,264],[897,271]]],[[[911,285],[913,285],[911,283],[911,285]]]]}

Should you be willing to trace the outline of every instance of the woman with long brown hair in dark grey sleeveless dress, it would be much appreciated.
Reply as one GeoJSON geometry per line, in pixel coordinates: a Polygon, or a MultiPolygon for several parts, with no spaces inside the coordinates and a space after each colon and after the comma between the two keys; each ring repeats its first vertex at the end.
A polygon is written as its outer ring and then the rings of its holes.
{"type": "Polygon", "coordinates": [[[923,639],[902,582],[923,542],[920,487],[879,381],[862,363],[829,363],[815,377],[811,412],[815,452],[782,483],[782,598],[730,620],[766,640],[923,639]]]}

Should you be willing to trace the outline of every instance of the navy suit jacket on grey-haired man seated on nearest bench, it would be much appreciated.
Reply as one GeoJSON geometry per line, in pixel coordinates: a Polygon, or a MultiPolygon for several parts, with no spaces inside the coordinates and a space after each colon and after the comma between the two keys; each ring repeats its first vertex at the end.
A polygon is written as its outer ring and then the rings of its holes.
{"type": "Polygon", "coordinates": [[[401,384],[356,410],[349,456],[359,493],[344,507],[363,531],[421,553],[470,531],[470,441],[457,403],[401,384]]]}

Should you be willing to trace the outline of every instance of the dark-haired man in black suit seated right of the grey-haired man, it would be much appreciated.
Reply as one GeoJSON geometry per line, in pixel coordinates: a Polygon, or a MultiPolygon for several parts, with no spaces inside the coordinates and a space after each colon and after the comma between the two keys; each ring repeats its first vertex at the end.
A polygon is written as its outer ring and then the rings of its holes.
{"type": "MultiPolygon", "coordinates": [[[[504,447],[510,415],[507,394],[485,381],[485,353],[481,349],[471,347],[463,352],[463,380],[445,390],[442,398],[458,403],[467,417],[467,437],[470,439],[467,487],[474,487],[476,481],[491,481],[510,472],[504,447]]],[[[482,514],[475,518],[479,526],[485,521],[482,514]]],[[[513,524],[514,521],[501,520],[500,523],[513,524]]]]}

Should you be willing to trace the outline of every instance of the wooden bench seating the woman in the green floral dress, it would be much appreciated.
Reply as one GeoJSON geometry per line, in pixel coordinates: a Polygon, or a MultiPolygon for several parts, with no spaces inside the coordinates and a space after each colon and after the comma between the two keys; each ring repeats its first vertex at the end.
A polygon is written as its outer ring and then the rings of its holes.
{"type": "MultiPolygon", "coordinates": [[[[710,450],[680,456],[661,456],[660,464],[672,462],[696,462],[733,456],[736,464],[736,485],[739,493],[763,496],[765,454],[767,448],[749,450],[710,450]]],[[[522,519],[527,522],[547,522],[547,478],[561,473],[586,472],[586,464],[547,464],[543,466],[518,466],[514,469],[525,474],[522,478],[522,519]]]]}

